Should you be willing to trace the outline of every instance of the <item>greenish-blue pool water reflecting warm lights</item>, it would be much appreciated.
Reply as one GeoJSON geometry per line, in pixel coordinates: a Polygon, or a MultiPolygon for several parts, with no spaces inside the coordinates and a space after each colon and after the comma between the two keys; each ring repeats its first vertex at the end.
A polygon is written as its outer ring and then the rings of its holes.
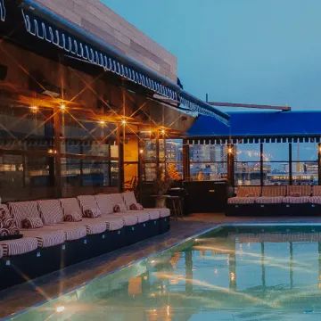
{"type": "Polygon", "coordinates": [[[321,227],[218,228],[13,320],[321,320],[321,227]]]}

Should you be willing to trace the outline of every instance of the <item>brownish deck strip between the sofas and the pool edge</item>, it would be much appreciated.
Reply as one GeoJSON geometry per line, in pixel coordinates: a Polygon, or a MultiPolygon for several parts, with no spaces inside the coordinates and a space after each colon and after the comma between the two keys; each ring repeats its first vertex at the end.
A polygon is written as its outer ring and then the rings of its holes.
{"type": "Polygon", "coordinates": [[[29,284],[15,286],[0,292],[0,317],[11,315],[15,311],[26,309],[44,300],[69,292],[81,284],[102,276],[117,268],[141,259],[157,251],[165,250],[186,238],[202,233],[220,224],[258,224],[258,223],[306,223],[321,224],[320,217],[243,217],[232,218],[223,214],[193,214],[188,218],[173,220],[170,231],[165,235],[153,237],[141,243],[128,246],[119,251],[90,259],[76,266],[66,268],[44,276],[29,284]]]}

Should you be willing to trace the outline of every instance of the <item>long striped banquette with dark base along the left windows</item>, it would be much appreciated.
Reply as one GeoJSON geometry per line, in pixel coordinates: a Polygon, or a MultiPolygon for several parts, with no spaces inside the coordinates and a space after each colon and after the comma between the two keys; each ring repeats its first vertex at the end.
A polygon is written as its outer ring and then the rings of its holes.
{"type": "Polygon", "coordinates": [[[0,289],[169,230],[169,209],[134,193],[0,205],[0,289]]]}

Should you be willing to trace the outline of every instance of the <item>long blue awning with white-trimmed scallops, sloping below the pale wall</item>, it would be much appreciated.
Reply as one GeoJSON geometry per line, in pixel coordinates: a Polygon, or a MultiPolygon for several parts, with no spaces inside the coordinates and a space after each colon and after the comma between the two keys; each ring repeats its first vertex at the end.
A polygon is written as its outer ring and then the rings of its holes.
{"type": "MultiPolygon", "coordinates": [[[[1,1],[1,0],[0,0],[1,1]]],[[[39,40],[63,50],[67,56],[91,63],[144,86],[153,93],[169,98],[193,111],[226,122],[229,116],[182,90],[169,78],[125,56],[98,37],[64,20],[34,0],[24,0],[21,12],[26,31],[39,40]]]]}

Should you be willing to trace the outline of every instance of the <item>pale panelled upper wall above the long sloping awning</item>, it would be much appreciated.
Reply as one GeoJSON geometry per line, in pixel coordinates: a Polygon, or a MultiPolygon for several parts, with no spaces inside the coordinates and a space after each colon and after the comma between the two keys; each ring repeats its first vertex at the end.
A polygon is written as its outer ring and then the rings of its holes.
{"type": "Polygon", "coordinates": [[[111,11],[99,0],[37,0],[47,8],[102,38],[122,53],[174,81],[177,58],[111,11]]]}

